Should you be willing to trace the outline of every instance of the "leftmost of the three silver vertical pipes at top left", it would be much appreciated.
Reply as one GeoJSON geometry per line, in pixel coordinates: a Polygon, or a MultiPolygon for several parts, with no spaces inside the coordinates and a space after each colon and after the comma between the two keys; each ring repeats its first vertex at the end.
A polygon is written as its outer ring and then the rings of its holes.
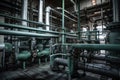
{"type": "MultiPolygon", "coordinates": [[[[23,0],[22,19],[27,20],[28,0],[23,0]]],[[[22,25],[27,26],[27,22],[22,21],[22,25]]]]}

